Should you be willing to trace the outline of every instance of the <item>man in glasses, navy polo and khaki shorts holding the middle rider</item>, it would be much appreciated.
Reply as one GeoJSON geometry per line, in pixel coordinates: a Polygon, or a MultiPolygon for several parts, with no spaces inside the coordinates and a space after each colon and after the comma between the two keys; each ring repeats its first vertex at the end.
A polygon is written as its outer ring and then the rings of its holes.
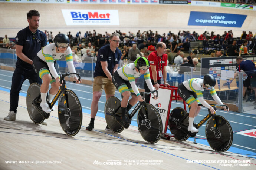
{"type": "MultiPolygon", "coordinates": [[[[109,37],[109,44],[101,47],[98,51],[96,66],[94,69],[93,95],[91,104],[91,121],[86,130],[94,129],[94,120],[98,111],[98,102],[103,89],[106,93],[106,100],[115,96],[115,86],[112,83],[112,75],[117,70],[121,51],[118,49],[120,38],[118,34],[109,37]]],[[[109,130],[108,126],[106,130],[109,130]]]]}

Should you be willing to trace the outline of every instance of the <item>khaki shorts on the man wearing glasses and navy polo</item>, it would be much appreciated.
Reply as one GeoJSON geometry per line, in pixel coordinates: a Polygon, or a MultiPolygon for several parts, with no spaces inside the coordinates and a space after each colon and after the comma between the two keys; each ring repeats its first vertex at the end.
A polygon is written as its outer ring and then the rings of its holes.
{"type": "Polygon", "coordinates": [[[108,95],[115,95],[115,86],[114,84],[106,77],[97,76],[94,78],[92,91],[100,91],[103,89],[108,95]]]}

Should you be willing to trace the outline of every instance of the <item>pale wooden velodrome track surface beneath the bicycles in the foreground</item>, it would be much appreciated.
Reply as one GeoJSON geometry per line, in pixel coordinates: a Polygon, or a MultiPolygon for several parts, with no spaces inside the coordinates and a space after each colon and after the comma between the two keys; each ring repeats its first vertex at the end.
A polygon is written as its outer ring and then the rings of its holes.
{"type": "MultiPolygon", "coordinates": [[[[256,158],[209,146],[160,139],[148,144],[136,126],[120,134],[106,131],[105,119],[96,117],[95,130],[86,131],[89,112],[83,113],[82,128],[67,136],[60,127],[57,109],[47,126],[36,125],[20,96],[16,121],[5,121],[9,92],[0,91],[0,169],[255,169],[256,158]],[[221,163],[220,163],[221,162],[221,163]]],[[[55,106],[55,108],[57,108],[55,106]]]]}

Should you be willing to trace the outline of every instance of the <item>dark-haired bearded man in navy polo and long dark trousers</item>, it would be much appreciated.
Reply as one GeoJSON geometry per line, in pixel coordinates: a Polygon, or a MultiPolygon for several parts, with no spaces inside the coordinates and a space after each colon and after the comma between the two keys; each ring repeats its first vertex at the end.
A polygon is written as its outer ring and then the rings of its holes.
{"type": "MultiPolygon", "coordinates": [[[[16,36],[16,54],[17,63],[12,77],[12,86],[10,91],[10,112],[4,120],[16,120],[17,107],[19,103],[19,93],[23,82],[29,79],[29,83],[42,83],[40,77],[32,67],[33,59],[36,53],[46,46],[46,34],[39,27],[40,14],[36,10],[30,10],[27,13],[27,22],[29,26],[20,30],[16,36]]],[[[44,121],[41,124],[47,125],[44,121]]]]}

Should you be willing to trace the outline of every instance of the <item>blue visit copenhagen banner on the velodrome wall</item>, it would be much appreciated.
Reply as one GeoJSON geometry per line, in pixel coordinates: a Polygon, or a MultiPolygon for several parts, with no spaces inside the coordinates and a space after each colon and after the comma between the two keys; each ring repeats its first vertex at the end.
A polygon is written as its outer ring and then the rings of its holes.
{"type": "Polygon", "coordinates": [[[247,15],[191,11],[188,25],[242,27],[247,15]]]}

